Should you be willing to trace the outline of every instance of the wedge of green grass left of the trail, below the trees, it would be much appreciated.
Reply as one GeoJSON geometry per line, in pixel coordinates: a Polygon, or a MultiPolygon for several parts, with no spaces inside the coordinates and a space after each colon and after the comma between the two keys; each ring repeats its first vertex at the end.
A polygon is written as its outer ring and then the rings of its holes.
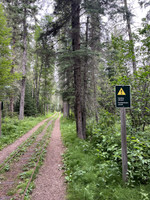
{"type": "Polygon", "coordinates": [[[2,136],[0,137],[0,151],[7,145],[13,143],[16,139],[24,135],[40,121],[50,117],[53,113],[39,117],[25,117],[24,120],[18,120],[17,117],[6,117],[2,121],[2,136]]]}

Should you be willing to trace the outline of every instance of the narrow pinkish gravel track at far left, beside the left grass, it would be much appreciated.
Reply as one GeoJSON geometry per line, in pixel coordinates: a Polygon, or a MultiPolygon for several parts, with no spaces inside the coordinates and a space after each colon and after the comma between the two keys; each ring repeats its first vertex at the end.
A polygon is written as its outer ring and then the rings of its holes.
{"type": "Polygon", "coordinates": [[[34,128],[28,131],[21,138],[16,140],[13,144],[5,147],[2,151],[0,151],[0,163],[2,163],[10,153],[12,153],[22,142],[24,142],[28,137],[30,137],[40,126],[42,126],[48,119],[43,120],[39,124],[37,124],[34,128]]]}

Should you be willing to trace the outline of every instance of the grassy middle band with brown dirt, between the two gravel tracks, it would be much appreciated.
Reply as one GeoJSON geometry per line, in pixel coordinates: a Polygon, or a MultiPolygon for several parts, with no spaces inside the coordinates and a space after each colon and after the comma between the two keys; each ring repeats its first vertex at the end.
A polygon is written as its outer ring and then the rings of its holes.
{"type": "Polygon", "coordinates": [[[34,180],[42,166],[58,114],[53,115],[0,165],[0,195],[11,200],[30,199],[34,180]],[[6,180],[12,183],[7,185],[6,180]],[[7,187],[6,187],[7,185],[7,187]]]}

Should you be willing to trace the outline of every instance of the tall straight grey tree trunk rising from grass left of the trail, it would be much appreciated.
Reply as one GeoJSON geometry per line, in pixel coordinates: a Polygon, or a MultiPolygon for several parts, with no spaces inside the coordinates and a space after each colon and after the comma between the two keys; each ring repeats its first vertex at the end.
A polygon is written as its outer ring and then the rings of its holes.
{"type": "Polygon", "coordinates": [[[19,119],[24,118],[24,100],[25,100],[25,85],[26,85],[26,64],[27,64],[27,23],[26,23],[27,10],[24,8],[23,19],[23,60],[22,60],[22,85],[21,85],[21,97],[20,97],[20,112],[19,119]]]}

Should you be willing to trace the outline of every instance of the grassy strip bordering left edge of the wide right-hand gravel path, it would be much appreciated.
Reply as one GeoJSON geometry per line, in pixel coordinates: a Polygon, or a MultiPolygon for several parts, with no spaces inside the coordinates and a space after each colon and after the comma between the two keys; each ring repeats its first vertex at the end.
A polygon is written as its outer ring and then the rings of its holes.
{"type": "MultiPolygon", "coordinates": [[[[57,117],[58,116],[55,116],[55,119],[57,117]]],[[[12,195],[11,200],[15,199],[15,197],[13,198],[15,194],[19,195],[20,200],[30,199],[30,194],[35,187],[34,179],[36,178],[36,175],[38,174],[38,171],[43,164],[46,155],[46,148],[50,141],[49,139],[55,119],[48,126],[43,138],[37,143],[32,157],[29,159],[26,165],[23,166],[23,172],[18,175],[18,184],[15,185],[15,188],[12,188],[12,190],[9,191],[9,195],[12,195]]]]}

